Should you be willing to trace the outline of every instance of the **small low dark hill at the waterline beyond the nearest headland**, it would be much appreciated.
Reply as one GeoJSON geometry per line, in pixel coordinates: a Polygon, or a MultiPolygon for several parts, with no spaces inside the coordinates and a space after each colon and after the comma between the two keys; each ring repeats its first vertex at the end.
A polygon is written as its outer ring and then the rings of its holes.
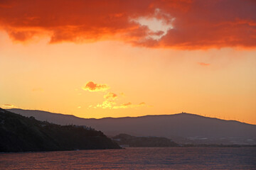
{"type": "Polygon", "coordinates": [[[112,139],[120,146],[126,147],[178,147],[176,142],[166,137],[134,137],[127,134],[119,134],[112,139]]]}

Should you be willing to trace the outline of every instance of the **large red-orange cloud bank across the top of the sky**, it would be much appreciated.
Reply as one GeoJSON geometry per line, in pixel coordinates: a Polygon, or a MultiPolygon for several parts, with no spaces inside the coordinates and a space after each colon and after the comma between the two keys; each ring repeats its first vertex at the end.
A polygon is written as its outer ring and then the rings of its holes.
{"type": "Polygon", "coordinates": [[[256,47],[256,1],[0,1],[0,29],[15,41],[119,40],[176,49],[256,47]],[[154,26],[154,27],[153,27],[154,26]]]}

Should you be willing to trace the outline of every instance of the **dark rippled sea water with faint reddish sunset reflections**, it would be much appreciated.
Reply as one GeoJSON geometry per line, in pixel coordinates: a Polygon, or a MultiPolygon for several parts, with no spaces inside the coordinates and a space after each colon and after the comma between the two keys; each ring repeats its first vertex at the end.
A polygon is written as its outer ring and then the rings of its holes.
{"type": "Polygon", "coordinates": [[[256,148],[128,148],[1,153],[0,169],[256,169],[256,148]]]}

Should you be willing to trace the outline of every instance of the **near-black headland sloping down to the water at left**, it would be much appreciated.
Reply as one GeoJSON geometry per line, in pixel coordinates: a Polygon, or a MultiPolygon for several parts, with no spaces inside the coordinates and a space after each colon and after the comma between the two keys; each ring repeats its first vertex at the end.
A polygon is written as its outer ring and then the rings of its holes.
{"type": "Polygon", "coordinates": [[[0,152],[119,148],[100,131],[42,122],[0,108],[0,152]]]}

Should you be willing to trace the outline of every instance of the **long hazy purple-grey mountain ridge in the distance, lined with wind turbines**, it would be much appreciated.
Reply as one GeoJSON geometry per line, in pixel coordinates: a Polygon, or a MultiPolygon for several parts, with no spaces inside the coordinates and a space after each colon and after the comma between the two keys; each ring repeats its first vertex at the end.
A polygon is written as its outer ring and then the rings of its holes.
{"type": "Polygon", "coordinates": [[[45,111],[10,109],[14,113],[33,116],[60,125],[87,125],[106,135],[125,133],[134,136],[167,137],[178,143],[255,145],[256,125],[235,120],[220,120],[190,113],[145,115],[126,118],[78,118],[45,111]]]}

